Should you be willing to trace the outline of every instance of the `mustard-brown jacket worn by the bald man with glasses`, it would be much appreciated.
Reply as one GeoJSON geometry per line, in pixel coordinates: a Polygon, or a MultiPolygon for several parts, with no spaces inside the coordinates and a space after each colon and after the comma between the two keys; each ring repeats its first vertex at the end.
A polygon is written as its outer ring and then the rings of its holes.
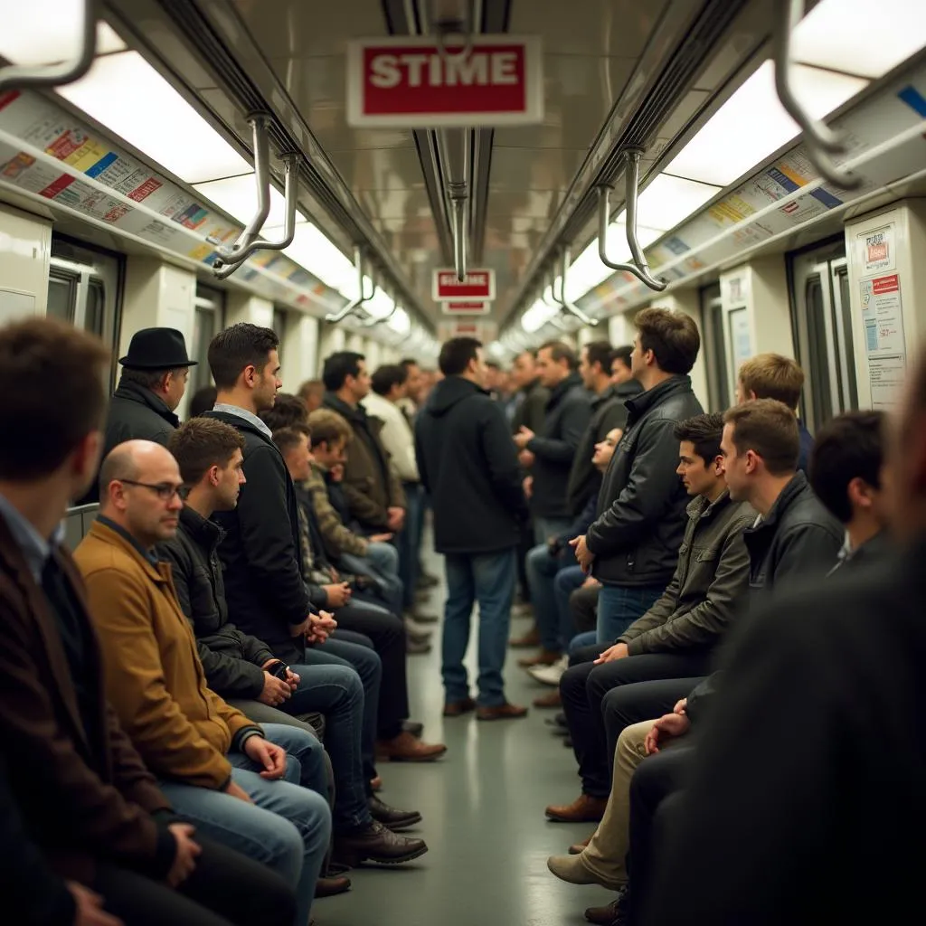
{"type": "Polygon", "coordinates": [[[232,774],[225,757],[232,738],[255,724],[206,687],[169,565],[155,568],[98,520],[74,559],[103,644],[106,691],[148,768],[223,788],[232,774]]]}

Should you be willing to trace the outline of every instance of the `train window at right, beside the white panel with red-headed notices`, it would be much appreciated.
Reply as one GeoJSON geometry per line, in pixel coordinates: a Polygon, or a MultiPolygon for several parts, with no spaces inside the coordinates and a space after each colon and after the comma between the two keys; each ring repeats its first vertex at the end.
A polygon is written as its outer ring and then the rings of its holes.
{"type": "Polygon", "coordinates": [[[858,407],[845,241],[788,256],[797,358],[807,380],[801,415],[811,432],[858,407]]]}

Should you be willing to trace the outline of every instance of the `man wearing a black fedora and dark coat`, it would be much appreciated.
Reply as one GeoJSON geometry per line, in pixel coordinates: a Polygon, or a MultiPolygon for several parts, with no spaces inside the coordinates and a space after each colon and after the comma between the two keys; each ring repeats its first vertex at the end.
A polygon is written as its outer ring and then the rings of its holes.
{"type": "MultiPolygon", "coordinates": [[[[122,375],[106,418],[103,457],[123,441],[145,440],[167,446],[180,426],[174,414],[186,392],[195,360],[187,357],[186,342],[176,328],[143,328],[132,335],[129,353],[119,358],[122,375]]],[[[81,504],[99,501],[94,482],[81,504]]]]}

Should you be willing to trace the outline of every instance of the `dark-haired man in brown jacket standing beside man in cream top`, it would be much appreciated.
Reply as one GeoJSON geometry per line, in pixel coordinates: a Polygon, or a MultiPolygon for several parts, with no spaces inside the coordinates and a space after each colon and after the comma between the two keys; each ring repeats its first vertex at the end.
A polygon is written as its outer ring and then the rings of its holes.
{"type": "Polygon", "coordinates": [[[370,533],[399,532],[405,526],[402,483],[389,466],[380,440],[380,423],[360,402],[369,394],[369,372],[362,354],[338,351],[325,360],[322,407],[336,411],[351,426],[354,441],[344,466],[344,494],[351,514],[370,533]]]}

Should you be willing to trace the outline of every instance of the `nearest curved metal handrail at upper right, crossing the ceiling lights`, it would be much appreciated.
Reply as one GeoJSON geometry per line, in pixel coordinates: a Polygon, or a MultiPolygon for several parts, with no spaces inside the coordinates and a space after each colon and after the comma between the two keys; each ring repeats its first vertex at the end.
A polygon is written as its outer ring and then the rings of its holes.
{"type": "Polygon", "coordinates": [[[830,155],[848,156],[845,137],[814,119],[797,101],[791,77],[791,33],[804,16],[805,0],[778,0],[775,16],[775,90],[788,115],[804,132],[807,156],[823,180],[855,190],[861,184],[861,177],[837,167],[830,155]]]}

